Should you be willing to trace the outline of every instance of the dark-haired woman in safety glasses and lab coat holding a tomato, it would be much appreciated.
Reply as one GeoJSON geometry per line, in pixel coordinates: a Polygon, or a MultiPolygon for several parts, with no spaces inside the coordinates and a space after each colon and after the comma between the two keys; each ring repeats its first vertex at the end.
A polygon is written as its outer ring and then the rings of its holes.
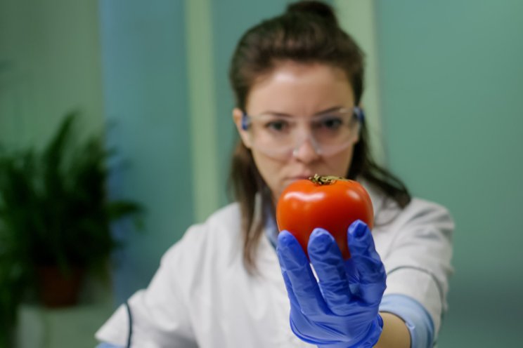
{"type": "MultiPolygon", "coordinates": [[[[292,4],[247,31],[233,55],[240,142],[236,202],[188,229],[140,290],[98,330],[105,347],[432,347],[451,273],[448,212],[411,199],[373,161],[363,112],[363,54],[332,8],[292,4]],[[315,173],[359,180],[375,210],[308,252],[278,234],[283,189],[315,173]],[[279,262],[278,262],[279,260],[279,262]]],[[[101,345],[103,347],[103,345],[101,345]]]]}

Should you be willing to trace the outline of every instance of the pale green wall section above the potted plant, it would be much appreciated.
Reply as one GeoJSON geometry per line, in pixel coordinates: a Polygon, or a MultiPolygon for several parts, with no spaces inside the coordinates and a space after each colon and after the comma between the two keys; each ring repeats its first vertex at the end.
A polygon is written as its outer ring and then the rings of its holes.
{"type": "Polygon", "coordinates": [[[0,142],[49,140],[72,109],[82,131],[103,130],[98,6],[93,1],[0,0],[0,142]]]}

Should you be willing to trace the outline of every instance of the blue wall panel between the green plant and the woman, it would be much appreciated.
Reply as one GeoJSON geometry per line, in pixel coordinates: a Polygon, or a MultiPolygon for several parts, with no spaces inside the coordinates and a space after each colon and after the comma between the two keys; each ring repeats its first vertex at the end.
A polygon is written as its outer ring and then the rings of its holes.
{"type": "Polygon", "coordinates": [[[127,247],[115,258],[122,302],[147,286],[193,220],[184,3],[99,4],[108,141],[124,163],[112,194],[138,199],[147,210],[145,231],[122,236],[127,247]]]}

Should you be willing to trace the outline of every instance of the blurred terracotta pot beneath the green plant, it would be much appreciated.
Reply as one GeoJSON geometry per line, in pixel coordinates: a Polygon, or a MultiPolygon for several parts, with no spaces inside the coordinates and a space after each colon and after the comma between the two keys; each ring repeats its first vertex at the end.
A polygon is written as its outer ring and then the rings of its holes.
{"type": "Polygon", "coordinates": [[[63,274],[56,266],[38,267],[40,299],[50,308],[70,307],[78,303],[78,295],[84,271],[71,267],[70,272],[63,274]]]}

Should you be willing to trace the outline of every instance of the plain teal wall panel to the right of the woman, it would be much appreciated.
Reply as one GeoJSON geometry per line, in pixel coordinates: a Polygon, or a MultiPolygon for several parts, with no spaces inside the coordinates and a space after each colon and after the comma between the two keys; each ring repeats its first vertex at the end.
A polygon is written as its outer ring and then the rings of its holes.
{"type": "Polygon", "coordinates": [[[456,220],[441,347],[523,338],[523,1],[376,1],[385,149],[456,220]]]}

